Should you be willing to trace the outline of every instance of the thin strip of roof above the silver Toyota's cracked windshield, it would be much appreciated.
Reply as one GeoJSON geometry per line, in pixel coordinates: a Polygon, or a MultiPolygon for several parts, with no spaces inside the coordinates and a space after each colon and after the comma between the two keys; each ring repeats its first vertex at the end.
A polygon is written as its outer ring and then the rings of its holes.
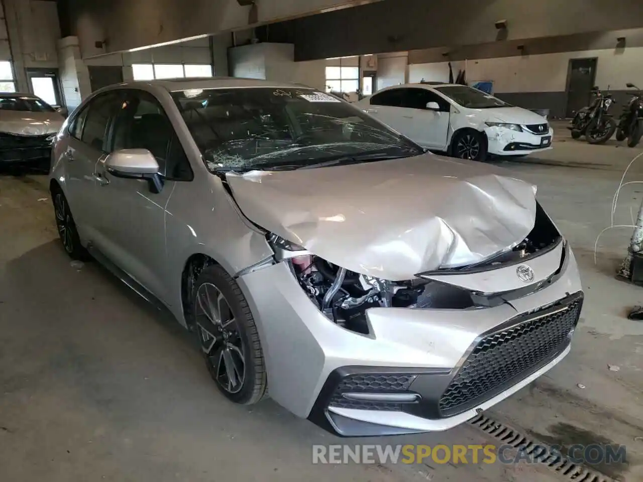
{"type": "Polygon", "coordinates": [[[307,85],[294,84],[293,82],[280,82],[278,80],[260,80],[255,78],[239,77],[213,77],[213,78],[168,78],[163,80],[138,80],[117,84],[120,86],[136,87],[137,85],[157,85],[168,92],[186,91],[190,89],[230,89],[248,87],[273,87],[273,88],[294,88],[312,89],[307,85]]]}

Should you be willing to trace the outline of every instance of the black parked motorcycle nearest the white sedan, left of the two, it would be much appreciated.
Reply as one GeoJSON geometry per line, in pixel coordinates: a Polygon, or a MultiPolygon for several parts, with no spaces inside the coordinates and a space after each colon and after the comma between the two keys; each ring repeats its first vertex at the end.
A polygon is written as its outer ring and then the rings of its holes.
{"type": "Polygon", "coordinates": [[[593,87],[592,91],[595,94],[592,104],[576,112],[568,129],[572,131],[573,139],[585,136],[590,144],[603,144],[616,130],[616,121],[609,113],[614,99],[611,94],[603,94],[598,87],[593,87]]]}

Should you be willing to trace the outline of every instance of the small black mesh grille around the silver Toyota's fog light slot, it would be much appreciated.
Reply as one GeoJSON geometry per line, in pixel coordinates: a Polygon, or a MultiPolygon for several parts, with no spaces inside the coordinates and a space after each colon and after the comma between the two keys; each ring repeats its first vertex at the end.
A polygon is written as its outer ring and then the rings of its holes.
{"type": "Polygon", "coordinates": [[[341,380],[332,394],[329,406],[361,410],[399,411],[400,404],[349,400],[343,393],[404,393],[417,375],[408,373],[356,373],[341,380]]]}

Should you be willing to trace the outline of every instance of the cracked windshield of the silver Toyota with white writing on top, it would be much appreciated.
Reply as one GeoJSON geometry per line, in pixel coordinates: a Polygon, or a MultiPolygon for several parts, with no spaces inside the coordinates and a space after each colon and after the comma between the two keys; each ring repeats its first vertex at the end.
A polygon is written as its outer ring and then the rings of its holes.
{"type": "Polygon", "coordinates": [[[356,107],[314,89],[199,89],[172,95],[212,172],[296,169],[423,152],[356,107]]]}

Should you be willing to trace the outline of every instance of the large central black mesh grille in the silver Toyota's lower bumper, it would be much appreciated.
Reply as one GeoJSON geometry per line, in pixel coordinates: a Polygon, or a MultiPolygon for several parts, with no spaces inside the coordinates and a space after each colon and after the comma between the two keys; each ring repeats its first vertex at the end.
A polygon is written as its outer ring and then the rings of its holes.
{"type": "Polygon", "coordinates": [[[444,391],[440,413],[466,411],[554,359],[570,342],[568,334],[576,326],[581,305],[579,298],[565,310],[484,337],[444,391]]]}

